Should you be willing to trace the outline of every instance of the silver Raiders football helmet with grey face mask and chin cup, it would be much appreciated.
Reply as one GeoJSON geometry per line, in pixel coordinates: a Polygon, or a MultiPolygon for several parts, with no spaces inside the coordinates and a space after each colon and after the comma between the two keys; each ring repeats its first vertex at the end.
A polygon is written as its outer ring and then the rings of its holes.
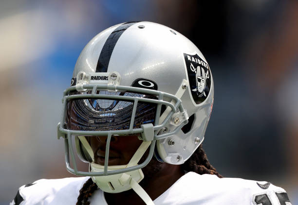
{"type": "Polygon", "coordinates": [[[106,192],[121,192],[138,186],[141,168],[153,155],[183,164],[204,140],[213,92],[205,57],[179,32],[145,21],[104,30],[80,53],[64,91],[57,129],[65,141],[67,170],[92,176],[106,192]],[[142,143],[131,160],[109,166],[112,136],[132,134],[142,143]],[[104,165],[94,162],[90,137],[106,137],[104,165]],[[89,172],[77,170],[73,139],[89,172]]]}

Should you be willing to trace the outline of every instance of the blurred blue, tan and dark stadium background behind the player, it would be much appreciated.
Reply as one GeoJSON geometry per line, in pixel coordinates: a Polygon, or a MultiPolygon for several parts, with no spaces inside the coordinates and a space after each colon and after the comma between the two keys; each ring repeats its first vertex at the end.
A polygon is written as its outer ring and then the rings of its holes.
{"type": "Polygon", "coordinates": [[[0,1],[0,205],[23,184],[73,176],[56,125],[76,59],[100,31],[141,20],[184,34],[210,65],[211,164],[298,205],[297,11],[297,0],[0,1]]]}

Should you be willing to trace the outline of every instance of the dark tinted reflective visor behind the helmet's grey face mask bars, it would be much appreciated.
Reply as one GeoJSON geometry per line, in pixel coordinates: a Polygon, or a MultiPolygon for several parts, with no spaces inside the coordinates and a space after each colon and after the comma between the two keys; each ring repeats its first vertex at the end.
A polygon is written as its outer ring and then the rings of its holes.
{"type": "MultiPolygon", "coordinates": [[[[89,92],[84,94],[88,93],[89,92]]],[[[97,94],[157,99],[157,97],[153,95],[132,92],[100,90],[97,91],[97,94]]],[[[133,100],[120,101],[99,98],[72,99],[67,102],[64,128],[81,131],[128,130],[130,128],[133,104],[133,100]]],[[[156,103],[138,102],[133,128],[140,128],[141,124],[146,123],[154,124],[156,108],[156,103]]]]}

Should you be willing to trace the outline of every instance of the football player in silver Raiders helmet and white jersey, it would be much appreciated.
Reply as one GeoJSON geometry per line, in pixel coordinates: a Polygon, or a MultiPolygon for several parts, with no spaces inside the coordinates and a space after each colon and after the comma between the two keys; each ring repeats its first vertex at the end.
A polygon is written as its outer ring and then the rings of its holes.
{"type": "Polygon", "coordinates": [[[205,57],[177,31],[106,29],[78,57],[57,126],[67,170],[84,177],[24,185],[11,205],[289,205],[284,189],[223,178],[208,162],[213,93],[205,57]]]}

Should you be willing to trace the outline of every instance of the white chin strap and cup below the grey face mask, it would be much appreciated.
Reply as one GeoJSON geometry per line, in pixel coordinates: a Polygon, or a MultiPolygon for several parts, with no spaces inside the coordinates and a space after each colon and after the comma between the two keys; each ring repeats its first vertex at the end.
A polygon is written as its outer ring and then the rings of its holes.
{"type": "MultiPolygon", "coordinates": [[[[90,171],[104,171],[105,166],[94,163],[93,150],[86,137],[78,136],[78,138],[80,139],[82,145],[85,147],[86,151],[92,158],[93,162],[90,163],[90,171]]],[[[151,141],[143,141],[140,147],[135,152],[135,154],[133,154],[133,156],[130,159],[130,162],[127,165],[108,166],[108,171],[120,170],[136,166],[143,154],[145,154],[150,144],[151,141]]],[[[93,182],[96,183],[96,185],[104,192],[119,193],[132,188],[146,203],[146,205],[154,205],[153,201],[146,193],[146,191],[138,184],[142,179],[144,179],[144,174],[141,169],[108,176],[92,176],[91,178],[93,182]]]]}

